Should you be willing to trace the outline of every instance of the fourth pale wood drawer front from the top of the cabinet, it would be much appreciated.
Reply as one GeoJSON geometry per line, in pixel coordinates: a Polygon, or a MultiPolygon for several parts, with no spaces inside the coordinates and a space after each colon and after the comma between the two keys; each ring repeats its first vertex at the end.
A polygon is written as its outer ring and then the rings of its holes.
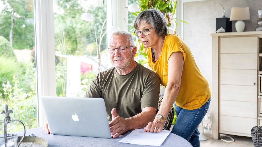
{"type": "Polygon", "coordinates": [[[257,102],[257,87],[220,85],[220,100],[257,102]]]}

